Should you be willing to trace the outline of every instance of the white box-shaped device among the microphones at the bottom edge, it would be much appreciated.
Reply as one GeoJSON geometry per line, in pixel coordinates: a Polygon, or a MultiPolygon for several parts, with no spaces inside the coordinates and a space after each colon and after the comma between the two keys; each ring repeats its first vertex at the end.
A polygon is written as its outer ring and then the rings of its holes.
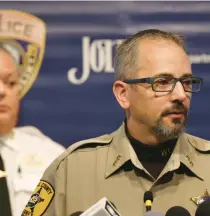
{"type": "Polygon", "coordinates": [[[71,216],[121,216],[113,204],[106,198],[100,199],[85,212],[75,212],[71,216]],[[78,214],[79,213],[79,214],[78,214]]]}

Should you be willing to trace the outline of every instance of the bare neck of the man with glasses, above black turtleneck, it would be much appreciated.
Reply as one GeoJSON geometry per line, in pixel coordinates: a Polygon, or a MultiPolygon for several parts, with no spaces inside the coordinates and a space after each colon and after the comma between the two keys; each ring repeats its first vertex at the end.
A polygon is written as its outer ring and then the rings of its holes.
{"type": "Polygon", "coordinates": [[[167,137],[157,136],[151,129],[148,128],[148,126],[140,122],[136,122],[134,119],[127,119],[126,124],[129,134],[144,144],[158,145],[159,143],[168,141],[167,137]]]}

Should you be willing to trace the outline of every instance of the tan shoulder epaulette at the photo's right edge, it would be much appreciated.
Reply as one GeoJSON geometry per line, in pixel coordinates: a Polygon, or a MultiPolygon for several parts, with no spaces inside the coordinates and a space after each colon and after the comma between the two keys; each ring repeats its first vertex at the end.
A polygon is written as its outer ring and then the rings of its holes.
{"type": "Polygon", "coordinates": [[[188,141],[199,152],[210,153],[210,141],[188,134],[188,141]]]}

